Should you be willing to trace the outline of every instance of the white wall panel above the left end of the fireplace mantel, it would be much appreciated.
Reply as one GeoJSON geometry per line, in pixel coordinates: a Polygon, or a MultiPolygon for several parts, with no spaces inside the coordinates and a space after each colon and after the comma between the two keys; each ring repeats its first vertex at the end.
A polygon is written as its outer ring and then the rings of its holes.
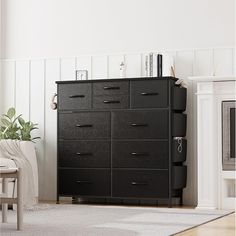
{"type": "Polygon", "coordinates": [[[212,49],[196,50],[194,75],[195,76],[212,76],[214,75],[214,54],[212,49]]]}

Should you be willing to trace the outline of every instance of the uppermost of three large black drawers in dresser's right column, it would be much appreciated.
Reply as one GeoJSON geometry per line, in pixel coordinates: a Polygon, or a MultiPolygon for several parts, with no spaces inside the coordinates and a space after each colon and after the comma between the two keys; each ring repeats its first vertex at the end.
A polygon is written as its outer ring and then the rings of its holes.
{"type": "Polygon", "coordinates": [[[112,112],[113,138],[168,138],[168,111],[112,112]]]}

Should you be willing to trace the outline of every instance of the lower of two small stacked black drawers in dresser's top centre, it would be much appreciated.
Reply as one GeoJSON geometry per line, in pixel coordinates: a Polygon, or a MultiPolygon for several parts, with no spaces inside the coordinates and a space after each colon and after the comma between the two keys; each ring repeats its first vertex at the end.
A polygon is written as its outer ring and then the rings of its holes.
{"type": "Polygon", "coordinates": [[[95,109],[129,108],[129,97],[126,95],[94,96],[93,108],[95,109]]]}

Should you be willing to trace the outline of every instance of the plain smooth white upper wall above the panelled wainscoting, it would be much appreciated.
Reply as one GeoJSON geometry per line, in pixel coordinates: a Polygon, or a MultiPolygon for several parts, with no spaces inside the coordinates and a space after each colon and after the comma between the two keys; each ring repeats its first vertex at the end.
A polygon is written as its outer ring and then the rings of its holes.
{"type": "Polygon", "coordinates": [[[234,0],[3,0],[3,58],[234,44],[234,0]]]}

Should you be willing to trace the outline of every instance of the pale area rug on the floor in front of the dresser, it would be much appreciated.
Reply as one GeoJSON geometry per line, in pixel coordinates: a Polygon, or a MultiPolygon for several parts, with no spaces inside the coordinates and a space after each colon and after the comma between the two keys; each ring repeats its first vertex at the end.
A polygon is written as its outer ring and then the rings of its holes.
{"type": "Polygon", "coordinates": [[[98,205],[50,205],[24,212],[24,230],[16,230],[16,212],[8,212],[0,235],[166,236],[216,219],[229,211],[98,205]]]}

